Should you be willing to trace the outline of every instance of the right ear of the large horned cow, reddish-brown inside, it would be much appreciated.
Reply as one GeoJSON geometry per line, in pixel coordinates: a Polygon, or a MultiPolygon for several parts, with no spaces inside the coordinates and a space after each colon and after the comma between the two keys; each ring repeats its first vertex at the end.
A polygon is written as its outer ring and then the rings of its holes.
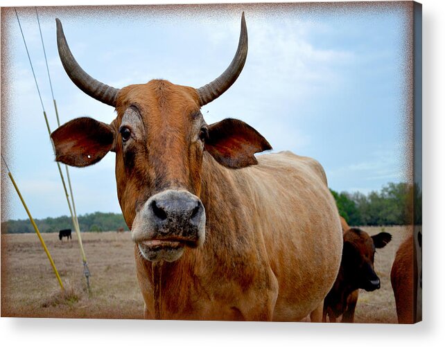
{"type": "Polygon", "coordinates": [[[209,125],[205,150],[227,168],[245,168],[258,163],[255,153],[272,150],[264,137],[250,125],[227,118],[209,125]]]}

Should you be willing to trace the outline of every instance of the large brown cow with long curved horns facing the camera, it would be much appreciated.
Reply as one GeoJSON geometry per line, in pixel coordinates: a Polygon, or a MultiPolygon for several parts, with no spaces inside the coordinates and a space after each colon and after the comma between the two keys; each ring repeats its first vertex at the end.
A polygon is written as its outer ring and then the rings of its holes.
{"type": "Polygon", "coordinates": [[[234,60],[199,89],[98,82],[74,60],[57,24],[65,71],[117,116],[110,125],[91,118],[62,125],[51,135],[56,160],[89,166],[116,153],[145,317],[298,321],[315,311],[321,321],[342,252],[324,170],[290,152],[256,158],[271,149],[259,132],[234,119],[207,125],[200,112],[241,73],[244,15],[234,60]]]}

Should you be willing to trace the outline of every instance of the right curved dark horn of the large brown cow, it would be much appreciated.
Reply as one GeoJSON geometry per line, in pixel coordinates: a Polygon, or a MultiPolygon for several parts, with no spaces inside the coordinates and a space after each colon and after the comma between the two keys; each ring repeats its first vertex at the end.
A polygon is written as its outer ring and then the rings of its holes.
{"type": "Polygon", "coordinates": [[[209,84],[197,89],[200,97],[200,105],[206,105],[211,101],[221,96],[238,78],[238,75],[243,70],[245,58],[247,57],[247,27],[245,25],[244,12],[241,16],[241,34],[238,42],[238,49],[236,50],[234,59],[229,67],[209,84]]]}

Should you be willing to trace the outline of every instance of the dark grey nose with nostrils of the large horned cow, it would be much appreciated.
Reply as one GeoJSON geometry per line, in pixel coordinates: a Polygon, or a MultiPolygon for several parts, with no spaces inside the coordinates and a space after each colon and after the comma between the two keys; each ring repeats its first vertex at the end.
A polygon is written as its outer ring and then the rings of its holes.
{"type": "Polygon", "coordinates": [[[168,224],[169,228],[160,229],[164,233],[168,233],[169,229],[185,227],[187,224],[198,224],[204,213],[200,199],[182,190],[169,190],[155,195],[149,208],[157,224],[168,224]]]}

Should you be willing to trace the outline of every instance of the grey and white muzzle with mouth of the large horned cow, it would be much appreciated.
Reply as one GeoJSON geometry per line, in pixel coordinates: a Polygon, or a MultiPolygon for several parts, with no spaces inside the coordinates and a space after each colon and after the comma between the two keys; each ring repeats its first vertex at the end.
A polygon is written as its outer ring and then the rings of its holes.
{"type": "Polygon", "coordinates": [[[132,225],[132,240],[150,261],[175,261],[184,253],[184,247],[199,247],[204,238],[204,206],[186,190],[165,190],[153,195],[132,225]]]}

